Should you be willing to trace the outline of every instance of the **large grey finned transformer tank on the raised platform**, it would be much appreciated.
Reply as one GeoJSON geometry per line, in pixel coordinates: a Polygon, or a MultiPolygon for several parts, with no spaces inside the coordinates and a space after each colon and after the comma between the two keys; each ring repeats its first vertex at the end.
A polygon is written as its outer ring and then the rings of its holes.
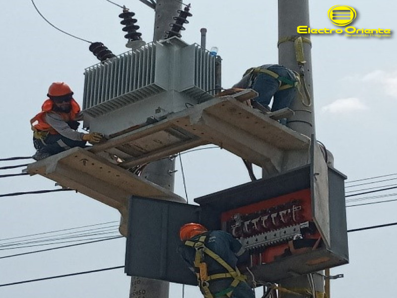
{"type": "Polygon", "coordinates": [[[171,37],[87,68],[84,127],[109,136],[212,98],[215,60],[171,37]]]}

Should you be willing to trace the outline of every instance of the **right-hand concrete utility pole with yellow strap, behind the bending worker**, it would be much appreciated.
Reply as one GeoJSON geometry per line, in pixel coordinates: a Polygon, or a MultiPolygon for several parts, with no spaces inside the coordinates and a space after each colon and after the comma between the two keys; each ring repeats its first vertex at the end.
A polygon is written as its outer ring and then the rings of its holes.
{"type": "MultiPolygon", "coordinates": [[[[310,100],[295,100],[290,107],[295,114],[288,118],[287,126],[294,131],[311,137],[315,134],[313,107],[313,78],[311,42],[309,34],[298,34],[298,26],[310,26],[309,0],[278,0],[278,63],[298,73],[304,70],[304,80],[310,94],[310,100]],[[297,40],[301,37],[302,39],[297,40]],[[301,52],[303,43],[304,61],[298,62],[297,51],[301,52]]],[[[302,53],[301,53],[302,54],[302,53]]],[[[298,55],[299,56],[299,55],[298,55]]],[[[302,55],[300,55],[302,57],[302,55]]],[[[302,90],[302,89],[301,89],[302,90]]],[[[303,93],[303,90],[301,91],[303,93]]],[[[304,94],[304,93],[303,93],[304,94]]],[[[298,97],[300,98],[300,97],[298,97]]],[[[294,156],[291,156],[294,158],[294,156]]],[[[301,158],[301,156],[295,156],[301,158]]],[[[302,164],[305,161],[303,160],[302,164]]],[[[324,278],[313,274],[316,298],[324,297],[324,278]]],[[[281,287],[298,293],[312,292],[309,276],[298,276],[283,280],[281,287]]],[[[296,295],[283,293],[282,298],[296,298],[296,295]]]]}

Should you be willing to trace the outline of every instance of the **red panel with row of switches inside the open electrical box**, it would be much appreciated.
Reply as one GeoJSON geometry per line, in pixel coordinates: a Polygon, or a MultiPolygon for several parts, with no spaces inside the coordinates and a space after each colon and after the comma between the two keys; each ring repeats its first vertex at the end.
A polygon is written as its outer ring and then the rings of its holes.
{"type": "Polygon", "coordinates": [[[223,212],[221,225],[249,250],[251,267],[322,245],[310,189],[223,212]]]}

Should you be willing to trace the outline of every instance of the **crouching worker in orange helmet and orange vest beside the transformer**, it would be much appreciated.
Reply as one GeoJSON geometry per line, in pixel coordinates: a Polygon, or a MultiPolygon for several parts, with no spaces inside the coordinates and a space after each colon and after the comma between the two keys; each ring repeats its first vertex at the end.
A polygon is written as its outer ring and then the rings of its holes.
{"type": "Polygon", "coordinates": [[[101,141],[99,133],[77,131],[78,121],[83,119],[83,115],[66,83],[52,83],[47,96],[49,98],[44,101],[42,111],[30,120],[33,145],[37,150],[33,159],[44,159],[73,147],[84,148],[87,141],[91,144],[101,141]]]}

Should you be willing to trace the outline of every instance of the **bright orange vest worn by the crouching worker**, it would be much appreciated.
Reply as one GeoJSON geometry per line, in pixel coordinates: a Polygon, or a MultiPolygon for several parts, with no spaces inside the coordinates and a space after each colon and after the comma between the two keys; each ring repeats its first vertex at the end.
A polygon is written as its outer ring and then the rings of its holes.
{"type": "Polygon", "coordinates": [[[80,106],[74,99],[71,99],[70,101],[71,109],[69,113],[54,112],[53,104],[54,102],[51,99],[47,99],[41,106],[41,112],[30,119],[33,131],[49,132],[52,135],[56,135],[58,132],[46,122],[47,113],[56,113],[60,115],[65,122],[67,122],[75,120],[77,114],[80,112],[80,106]]]}

